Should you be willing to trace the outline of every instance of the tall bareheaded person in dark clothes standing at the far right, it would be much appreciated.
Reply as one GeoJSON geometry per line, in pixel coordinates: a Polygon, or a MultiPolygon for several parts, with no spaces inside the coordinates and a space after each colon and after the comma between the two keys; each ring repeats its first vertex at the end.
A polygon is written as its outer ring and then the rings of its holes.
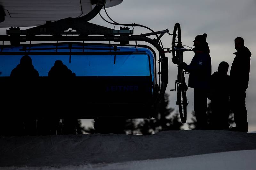
{"type": "Polygon", "coordinates": [[[245,106],[246,89],[249,83],[250,61],[252,53],[244,46],[244,39],[235,39],[236,57],[230,69],[230,81],[232,84],[230,93],[231,110],[234,112],[236,127],[232,131],[248,131],[247,110],[245,106]]]}

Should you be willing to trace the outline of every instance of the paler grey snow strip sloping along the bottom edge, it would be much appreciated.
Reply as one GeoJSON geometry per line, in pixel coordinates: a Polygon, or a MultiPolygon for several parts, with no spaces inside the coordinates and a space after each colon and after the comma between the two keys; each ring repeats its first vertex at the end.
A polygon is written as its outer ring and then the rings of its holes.
{"type": "Polygon", "coordinates": [[[79,166],[4,167],[5,170],[255,170],[256,150],[209,153],[179,158],[79,166]],[[242,161],[241,161],[242,160],[242,161]]]}

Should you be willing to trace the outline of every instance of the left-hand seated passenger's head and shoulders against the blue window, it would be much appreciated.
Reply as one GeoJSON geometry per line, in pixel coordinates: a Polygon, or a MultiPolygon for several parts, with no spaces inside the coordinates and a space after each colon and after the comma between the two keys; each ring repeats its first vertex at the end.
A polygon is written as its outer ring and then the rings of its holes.
{"type": "Polygon", "coordinates": [[[39,77],[39,73],[34,68],[32,59],[24,55],[20,59],[20,64],[12,69],[10,77],[39,77]]]}

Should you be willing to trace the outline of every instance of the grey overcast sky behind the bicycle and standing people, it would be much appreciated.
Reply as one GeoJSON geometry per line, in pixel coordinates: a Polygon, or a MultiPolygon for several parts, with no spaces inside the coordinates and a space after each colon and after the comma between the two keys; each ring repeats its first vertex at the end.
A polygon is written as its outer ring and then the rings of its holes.
{"type": "MultiPolygon", "coordinates": [[[[217,71],[220,61],[229,63],[229,71],[236,52],[234,39],[243,37],[245,46],[252,52],[249,87],[246,91],[246,107],[248,111],[249,131],[256,131],[256,0],[124,0],[121,4],[108,8],[110,17],[119,23],[137,23],[150,27],[154,31],[170,32],[176,22],[181,25],[181,41],[183,45],[193,46],[193,40],[198,34],[207,33],[207,41],[212,58],[212,73],[217,71]]],[[[103,11],[101,11],[102,14],[103,11]]],[[[104,15],[105,16],[105,15],[104,15]]],[[[108,26],[99,16],[90,22],[108,26]]],[[[116,26],[119,28],[119,26],[116,26]]],[[[134,34],[146,33],[148,30],[135,27],[134,34]]],[[[152,36],[153,38],[153,36],[152,36]]],[[[172,36],[162,38],[164,47],[170,47],[172,36]]],[[[190,63],[194,56],[192,52],[184,53],[184,61],[190,63]]],[[[174,88],[177,77],[177,65],[169,57],[169,82],[166,92],[170,94],[170,107],[176,106],[177,93],[170,92],[174,88]]],[[[228,74],[229,74],[228,71],[228,74]]],[[[188,76],[186,77],[188,82],[188,76]]],[[[194,109],[193,89],[187,91],[189,100],[188,121],[194,109]]],[[[185,125],[185,128],[187,124],[185,125]]]]}

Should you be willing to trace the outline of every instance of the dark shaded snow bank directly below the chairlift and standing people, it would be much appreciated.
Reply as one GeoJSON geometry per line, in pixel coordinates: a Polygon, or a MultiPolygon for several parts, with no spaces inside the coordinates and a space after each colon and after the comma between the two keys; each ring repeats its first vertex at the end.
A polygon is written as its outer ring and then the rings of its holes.
{"type": "MultiPolygon", "coordinates": [[[[70,166],[256,149],[256,134],[163,131],[155,135],[0,137],[0,166],[70,166]]],[[[255,153],[255,152],[254,152],[255,153]]]]}

